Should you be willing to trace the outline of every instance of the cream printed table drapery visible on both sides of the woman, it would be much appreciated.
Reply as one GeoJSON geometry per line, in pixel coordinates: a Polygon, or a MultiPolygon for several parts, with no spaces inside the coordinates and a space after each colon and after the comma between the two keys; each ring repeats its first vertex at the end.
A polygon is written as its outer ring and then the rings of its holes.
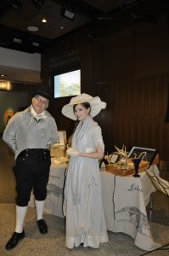
{"type": "MultiPolygon", "coordinates": [[[[44,212],[61,218],[64,218],[62,204],[66,167],[65,163],[52,162],[44,207],[44,212]]],[[[146,251],[160,247],[160,244],[153,241],[146,212],[150,195],[156,190],[147,173],[141,172],[140,177],[120,177],[103,170],[101,168],[100,177],[107,230],[131,236],[134,245],[146,251]]],[[[149,170],[159,173],[155,165],[149,170]]],[[[35,207],[33,195],[29,206],[35,207]]]]}

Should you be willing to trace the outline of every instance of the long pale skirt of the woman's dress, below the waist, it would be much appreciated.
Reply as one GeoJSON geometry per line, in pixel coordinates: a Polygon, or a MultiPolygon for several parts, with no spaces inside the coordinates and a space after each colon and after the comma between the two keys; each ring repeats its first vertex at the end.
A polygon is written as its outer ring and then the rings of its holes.
{"type": "Polygon", "coordinates": [[[66,174],[64,212],[66,247],[78,247],[83,243],[84,247],[99,248],[99,243],[109,241],[98,160],[71,158],[66,174]]]}

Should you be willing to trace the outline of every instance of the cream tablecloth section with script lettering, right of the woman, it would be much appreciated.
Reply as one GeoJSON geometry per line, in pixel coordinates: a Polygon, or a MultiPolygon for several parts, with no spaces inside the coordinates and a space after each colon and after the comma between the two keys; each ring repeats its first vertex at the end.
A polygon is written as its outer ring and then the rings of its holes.
{"type": "MultiPolygon", "coordinates": [[[[158,172],[157,166],[151,166],[158,172]]],[[[134,239],[134,244],[146,251],[161,245],[153,241],[146,206],[155,191],[146,172],[141,177],[120,177],[101,172],[102,196],[107,230],[122,232],[134,239]]]]}

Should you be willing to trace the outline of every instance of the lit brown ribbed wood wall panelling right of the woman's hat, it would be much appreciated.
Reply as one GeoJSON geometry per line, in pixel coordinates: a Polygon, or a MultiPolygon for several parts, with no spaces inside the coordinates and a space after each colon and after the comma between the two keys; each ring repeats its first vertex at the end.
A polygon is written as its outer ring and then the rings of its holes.
{"type": "Polygon", "coordinates": [[[162,77],[122,81],[100,88],[100,95],[109,97],[108,121],[102,123],[106,148],[133,145],[157,148],[168,160],[169,125],[165,122],[168,84],[162,77]],[[110,110],[111,109],[111,110],[110,110]]]}

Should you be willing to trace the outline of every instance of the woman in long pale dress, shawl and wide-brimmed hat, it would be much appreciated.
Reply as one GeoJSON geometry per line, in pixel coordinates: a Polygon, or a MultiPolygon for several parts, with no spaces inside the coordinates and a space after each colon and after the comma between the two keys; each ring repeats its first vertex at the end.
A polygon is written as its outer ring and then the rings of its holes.
{"type": "Polygon", "coordinates": [[[64,213],[65,246],[99,248],[109,241],[104,220],[99,159],[104,156],[104,142],[99,125],[93,121],[106,104],[98,96],[75,96],[62,113],[79,124],[66,154],[70,162],[66,173],[64,213]]]}

